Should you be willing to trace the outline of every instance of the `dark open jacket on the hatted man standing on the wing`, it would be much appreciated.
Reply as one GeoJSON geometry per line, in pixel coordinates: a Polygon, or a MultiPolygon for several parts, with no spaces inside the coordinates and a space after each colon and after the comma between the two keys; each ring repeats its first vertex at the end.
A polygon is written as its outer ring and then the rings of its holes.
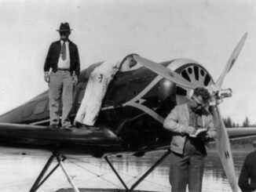
{"type": "MultiPolygon", "coordinates": [[[[75,43],[69,42],[69,55],[70,55],[70,71],[75,71],[75,74],[79,76],[80,73],[80,60],[79,60],[79,49],[75,45],[75,43]]],[[[44,66],[44,71],[49,71],[49,68],[51,67],[53,69],[53,72],[55,73],[57,71],[57,64],[58,60],[60,58],[60,49],[61,49],[61,43],[60,41],[53,42],[49,46],[49,51],[46,56],[46,62],[44,66]]]]}

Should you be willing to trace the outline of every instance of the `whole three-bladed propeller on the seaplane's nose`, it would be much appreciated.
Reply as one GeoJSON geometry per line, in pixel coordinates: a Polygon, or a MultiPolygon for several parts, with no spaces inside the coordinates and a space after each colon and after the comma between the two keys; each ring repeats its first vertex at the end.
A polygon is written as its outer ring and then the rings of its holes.
{"type": "MultiPolygon", "coordinates": [[[[243,48],[246,38],[247,38],[247,33],[243,34],[243,38],[241,38],[240,42],[236,45],[236,48],[233,50],[231,56],[229,57],[228,63],[226,64],[217,82],[213,85],[207,86],[207,89],[210,91],[212,96],[216,97],[218,96],[218,94],[216,93],[221,92],[221,86],[223,84],[225,76],[226,74],[229,73],[234,63],[236,62],[236,59],[239,56],[241,49],[243,48]]],[[[137,62],[143,64],[145,67],[148,67],[150,70],[161,75],[163,78],[167,78],[171,82],[174,82],[177,85],[184,86],[185,88],[196,89],[195,84],[188,82],[185,78],[182,78],[179,74],[177,74],[174,71],[171,71],[169,68],[164,67],[163,65],[155,63],[151,60],[147,60],[141,56],[133,56],[133,57],[134,57],[134,60],[137,60],[137,62]]],[[[221,163],[225,170],[225,174],[229,179],[229,184],[232,188],[232,191],[236,192],[236,191],[239,191],[239,187],[236,182],[236,173],[235,173],[235,167],[234,167],[234,162],[233,162],[232,152],[231,152],[231,147],[229,142],[229,135],[227,130],[225,129],[225,125],[221,118],[221,112],[217,106],[217,103],[215,103],[215,105],[213,106],[214,125],[218,128],[218,134],[216,137],[216,146],[217,146],[219,156],[221,158],[221,163]]]]}

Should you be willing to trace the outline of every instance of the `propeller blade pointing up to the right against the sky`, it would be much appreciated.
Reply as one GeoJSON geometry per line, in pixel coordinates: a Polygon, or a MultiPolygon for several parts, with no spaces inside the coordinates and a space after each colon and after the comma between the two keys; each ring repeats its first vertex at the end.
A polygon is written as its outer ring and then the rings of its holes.
{"type": "Polygon", "coordinates": [[[214,85],[214,91],[217,91],[221,89],[221,85],[223,83],[223,80],[226,76],[226,74],[229,73],[231,68],[233,67],[234,63],[236,62],[237,57],[239,56],[241,49],[243,48],[243,44],[247,38],[247,32],[243,34],[243,38],[241,38],[240,42],[236,45],[236,48],[233,50],[231,56],[229,57],[228,63],[225,66],[225,69],[222,71],[221,76],[218,78],[217,82],[214,85]]]}

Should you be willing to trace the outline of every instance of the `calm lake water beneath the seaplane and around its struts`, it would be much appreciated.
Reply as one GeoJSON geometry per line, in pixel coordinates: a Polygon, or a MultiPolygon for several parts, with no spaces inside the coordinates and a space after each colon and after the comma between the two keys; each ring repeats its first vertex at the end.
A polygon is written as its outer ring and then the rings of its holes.
{"type": "MultiPolygon", "coordinates": [[[[236,176],[239,176],[243,160],[249,152],[233,153],[236,176]]],[[[0,191],[29,191],[49,155],[48,153],[41,154],[40,156],[1,154],[0,191]]],[[[125,180],[127,186],[131,187],[150,168],[152,163],[157,161],[162,155],[163,151],[161,153],[147,154],[143,158],[124,156],[123,158],[109,159],[123,180],[125,180]]],[[[136,189],[170,191],[169,162],[170,158],[166,158],[136,189]]],[[[104,159],[70,157],[68,161],[65,161],[65,165],[69,175],[72,176],[78,187],[123,188],[104,159]]],[[[38,192],[52,192],[63,187],[70,186],[64,173],[58,168],[57,172],[54,172],[53,176],[49,177],[38,192]]],[[[231,191],[216,152],[208,153],[203,176],[203,191],[231,191]]]]}

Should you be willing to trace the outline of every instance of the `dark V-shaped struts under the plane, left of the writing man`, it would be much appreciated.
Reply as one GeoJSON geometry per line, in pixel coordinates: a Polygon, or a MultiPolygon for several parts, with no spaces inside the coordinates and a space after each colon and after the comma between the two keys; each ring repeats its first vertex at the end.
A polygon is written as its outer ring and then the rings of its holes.
{"type": "Polygon", "coordinates": [[[126,191],[133,191],[134,188],[137,187],[138,184],[140,184],[146,178],[146,176],[148,176],[169,154],[170,154],[170,150],[167,150],[166,153],[163,154],[163,156],[161,158],[159,158],[159,160],[156,161],[155,164],[152,165],[152,167],[149,168],[148,171],[143,174],[143,176],[141,176],[139,179],[137,179],[137,181],[132,185],[132,187],[130,187],[130,189],[126,186],[126,183],[124,183],[121,176],[119,176],[119,173],[115,170],[112,163],[108,160],[108,157],[105,156],[104,159],[108,162],[108,165],[112,168],[113,172],[115,172],[115,176],[117,176],[118,179],[121,181],[121,183],[123,184],[123,187],[126,188],[126,191]]]}

